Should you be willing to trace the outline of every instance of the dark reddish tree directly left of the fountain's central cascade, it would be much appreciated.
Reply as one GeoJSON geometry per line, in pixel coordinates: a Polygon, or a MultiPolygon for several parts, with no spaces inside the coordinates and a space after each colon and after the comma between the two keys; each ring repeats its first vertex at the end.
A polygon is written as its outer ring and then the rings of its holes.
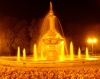
{"type": "Polygon", "coordinates": [[[33,19],[31,22],[31,25],[29,27],[29,32],[30,32],[30,50],[33,51],[33,46],[34,44],[38,43],[39,35],[40,35],[40,26],[42,24],[43,19],[40,18],[39,20],[33,19]]]}

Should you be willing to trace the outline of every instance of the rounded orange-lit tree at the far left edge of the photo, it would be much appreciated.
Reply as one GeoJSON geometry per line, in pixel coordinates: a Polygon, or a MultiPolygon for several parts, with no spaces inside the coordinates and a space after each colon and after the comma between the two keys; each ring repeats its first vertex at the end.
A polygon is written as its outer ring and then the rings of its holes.
{"type": "Polygon", "coordinates": [[[11,55],[12,54],[12,43],[14,41],[15,34],[12,30],[6,29],[1,34],[1,52],[2,55],[11,55]]]}

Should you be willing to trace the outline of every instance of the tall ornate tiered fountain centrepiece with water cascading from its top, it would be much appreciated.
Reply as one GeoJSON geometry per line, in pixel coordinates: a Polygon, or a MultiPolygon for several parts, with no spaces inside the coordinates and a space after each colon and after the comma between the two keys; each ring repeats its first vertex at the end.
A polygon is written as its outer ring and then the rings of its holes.
{"type": "Polygon", "coordinates": [[[50,11],[44,19],[39,37],[38,49],[41,58],[46,60],[62,60],[64,57],[64,35],[61,24],[53,14],[52,3],[50,11]]]}

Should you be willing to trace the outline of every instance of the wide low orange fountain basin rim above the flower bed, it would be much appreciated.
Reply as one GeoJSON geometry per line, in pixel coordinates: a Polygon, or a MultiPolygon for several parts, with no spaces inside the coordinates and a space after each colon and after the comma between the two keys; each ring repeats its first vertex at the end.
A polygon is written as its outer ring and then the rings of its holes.
{"type": "Polygon", "coordinates": [[[32,61],[32,57],[28,57],[27,60],[17,61],[15,57],[0,57],[0,65],[2,66],[13,66],[13,67],[82,67],[82,66],[100,66],[100,56],[97,58],[86,59],[76,59],[64,61],[47,61],[38,60],[32,61]]]}

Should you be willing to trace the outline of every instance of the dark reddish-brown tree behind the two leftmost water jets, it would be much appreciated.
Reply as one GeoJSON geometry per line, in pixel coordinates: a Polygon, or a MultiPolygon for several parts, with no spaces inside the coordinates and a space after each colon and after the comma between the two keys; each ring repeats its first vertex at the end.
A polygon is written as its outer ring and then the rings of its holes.
{"type": "Polygon", "coordinates": [[[17,49],[17,47],[20,46],[21,50],[23,48],[27,49],[27,53],[29,53],[29,36],[28,32],[25,28],[23,28],[16,36],[13,47],[17,49]]]}

